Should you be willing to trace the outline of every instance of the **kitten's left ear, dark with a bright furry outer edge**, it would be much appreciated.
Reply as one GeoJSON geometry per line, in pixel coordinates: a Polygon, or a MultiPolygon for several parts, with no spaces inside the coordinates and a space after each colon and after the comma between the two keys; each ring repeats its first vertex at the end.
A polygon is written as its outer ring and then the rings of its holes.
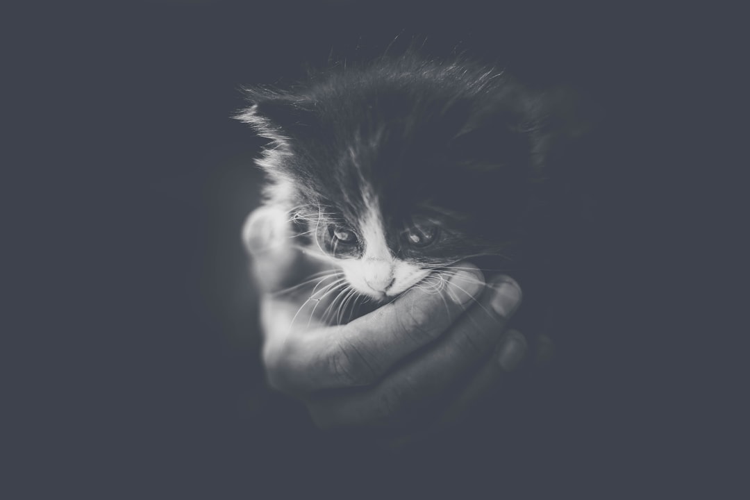
{"type": "Polygon", "coordinates": [[[260,136],[287,143],[316,130],[317,114],[311,101],[260,88],[244,90],[251,106],[235,118],[250,124],[260,136]]]}

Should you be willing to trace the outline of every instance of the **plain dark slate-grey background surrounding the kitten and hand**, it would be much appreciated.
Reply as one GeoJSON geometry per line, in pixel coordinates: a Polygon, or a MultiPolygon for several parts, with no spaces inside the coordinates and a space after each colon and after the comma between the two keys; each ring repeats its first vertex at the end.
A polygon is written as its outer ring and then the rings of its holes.
{"type": "Polygon", "coordinates": [[[19,90],[9,165],[23,182],[5,187],[24,187],[7,214],[22,235],[14,295],[28,299],[9,309],[34,361],[13,406],[27,491],[359,498],[353,488],[458,494],[502,478],[493,457],[453,457],[469,465],[452,483],[435,456],[341,456],[299,406],[263,387],[239,244],[262,142],[229,119],[243,104],[238,86],[293,82],[332,52],[378,55],[397,35],[426,37],[436,54],[458,46],[535,84],[577,86],[617,117],[612,154],[625,168],[606,180],[604,248],[619,281],[601,291],[613,307],[589,314],[611,328],[576,353],[596,383],[571,401],[599,413],[554,460],[520,457],[517,482],[669,491],[689,487],[684,471],[706,450],[727,451],[695,430],[715,406],[685,378],[696,375],[685,353],[698,350],[684,346],[693,337],[680,294],[690,295],[683,271],[694,261],[676,250],[683,229],[705,241],[713,223],[700,209],[684,217],[682,201],[701,177],[690,146],[708,140],[692,123],[705,124],[721,95],[707,82],[721,79],[732,45],[713,36],[731,34],[715,25],[718,7],[438,3],[29,2],[5,16],[6,78],[19,90]]]}

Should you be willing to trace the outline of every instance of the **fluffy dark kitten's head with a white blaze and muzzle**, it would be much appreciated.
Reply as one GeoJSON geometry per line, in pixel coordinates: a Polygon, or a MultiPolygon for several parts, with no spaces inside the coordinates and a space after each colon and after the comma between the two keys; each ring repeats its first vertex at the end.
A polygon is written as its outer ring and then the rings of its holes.
{"type": "Polygon", "coordinates": [[[238,118],[272,140],[267,202],[378,300],[472,256],[510,264],[553,145],[577,133],[559,94],[413,54],[248,95],[238,118]]]}

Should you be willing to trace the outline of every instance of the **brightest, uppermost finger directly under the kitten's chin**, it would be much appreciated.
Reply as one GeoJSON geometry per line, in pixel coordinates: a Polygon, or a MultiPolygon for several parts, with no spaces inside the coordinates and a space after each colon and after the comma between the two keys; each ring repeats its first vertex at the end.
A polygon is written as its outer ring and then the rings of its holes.
{"type": "Polygon", "coordinates": [[[371,385],[440,337],[483,289],[481,271],[464,265],[439,292],[413,287],[347,325],[269,336],[263,352],[269,382],[290,394],[371,385]]]}

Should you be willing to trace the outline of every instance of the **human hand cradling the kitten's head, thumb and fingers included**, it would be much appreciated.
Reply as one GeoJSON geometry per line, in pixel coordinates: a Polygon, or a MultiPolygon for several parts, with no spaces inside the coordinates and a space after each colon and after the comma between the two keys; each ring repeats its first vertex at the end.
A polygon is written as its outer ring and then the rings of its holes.
{"type": "Polygon", "coordinates": [[[525,364],[526,337],[507,328],[520,287],[502,275],[485,283],[469,262],[452,268],[456,286],[414,287],[347,325],[319,322],[313,285],[300,283],[323,264],[275,217],[260,208],[243,232],[261,292],[263,364],[269,385],[305,403],[318,427],[440,428],[525,364]]]}

